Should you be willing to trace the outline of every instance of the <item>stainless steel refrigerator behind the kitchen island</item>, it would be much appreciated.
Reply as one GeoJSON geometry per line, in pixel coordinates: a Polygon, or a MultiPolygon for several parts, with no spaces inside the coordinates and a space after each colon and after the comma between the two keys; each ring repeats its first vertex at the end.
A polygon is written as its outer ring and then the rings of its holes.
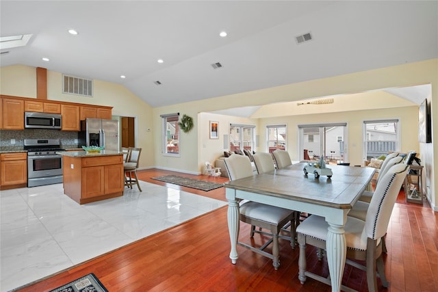
{"type": "Polygon", "coordinates": [[[105,150],[120,150],[118,120],[87,118],[81,120],[79,146],[103,146],[105,150]]]}

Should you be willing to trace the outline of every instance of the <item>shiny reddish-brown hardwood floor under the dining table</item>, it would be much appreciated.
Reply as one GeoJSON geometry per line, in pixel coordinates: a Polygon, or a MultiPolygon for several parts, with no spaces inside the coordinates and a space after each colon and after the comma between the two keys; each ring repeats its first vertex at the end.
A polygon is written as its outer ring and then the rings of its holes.
{"type": "MultiPolygon", "coordinates": [[[[225,200],[224,188],[199,191],[152,180],[176,174],[223,183],[226,178],[193,176],[163,170],[142,170],[142,181],[225,200]]],[[[145,222],[147,224],[147,222],[145,222]]],[[[241,225],[240,240],[249,241],[249,226],[241,225]]],[[[254,237],[255,243],[266,237],[254,237]]],[[[390,282],[379,291],[438,291],[438,213],[427,202],[407,204],[400,191],[387,234],[385,270],[390,282]]],[[[21,291],[50,291],[88,273],[94,273],[109,291],[331,291],[331,287],[308,279],[298,280],[298,248],[280,241],[281,266],[238,248],[236,265],[229,259],[227,207],[198,217],[162,233],[146,237],[119,250],[94,258],[57,275],[40,280],[21,291]]],[[[326,261],[318,262],[307,248],[308,269],[326,276],[326,261]]],[[[343,284],[368,291],[365,272],[346,266],[343,284]]]]}

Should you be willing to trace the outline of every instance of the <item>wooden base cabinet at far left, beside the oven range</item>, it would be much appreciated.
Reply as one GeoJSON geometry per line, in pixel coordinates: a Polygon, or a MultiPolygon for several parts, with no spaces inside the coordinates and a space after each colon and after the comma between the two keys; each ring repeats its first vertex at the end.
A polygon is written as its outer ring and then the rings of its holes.
{"type": "Polygon", "coordinates": [[[27,186],[27,152],[0,154],[1,189],[27,186]]]}

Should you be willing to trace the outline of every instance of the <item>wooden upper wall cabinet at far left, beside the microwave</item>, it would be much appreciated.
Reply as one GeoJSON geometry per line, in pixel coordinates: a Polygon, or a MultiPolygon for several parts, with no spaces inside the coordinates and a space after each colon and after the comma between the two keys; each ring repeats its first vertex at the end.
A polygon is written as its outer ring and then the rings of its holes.
{"type": "Polygon", "coordinates": [[[23,100],[2,98],[2,129],[25,129],[25,103],[23,100]]]}

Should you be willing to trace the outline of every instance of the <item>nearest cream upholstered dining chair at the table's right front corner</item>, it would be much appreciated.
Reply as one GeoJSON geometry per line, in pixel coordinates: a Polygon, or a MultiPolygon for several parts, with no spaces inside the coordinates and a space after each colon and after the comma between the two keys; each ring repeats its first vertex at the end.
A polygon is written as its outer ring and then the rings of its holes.
{"type": "MultiPolygon", "coordinates": [[[[381,239],[387,232],[392,209],[408,170],[409,166],[402,163],[389,168],[376,187],[365,221],[348,217],[344,227],[347,247],[346,263],[366,271],[368,291],[378,291],[376,269],[383,287],[387,287],[381,239]],[[365,261],[366,267],[351,260],[365,261]]],[[[317,215],[311,215],[296,228],[298,244],[300,245],[298,279],[301,284],[305,283],[307,276],[330,284],[329,279],[306,271],[306,245],[313,245],[325,250],[327,228],[329,228],[329,224],[326,223],[325,218],[317,215]]]]}

